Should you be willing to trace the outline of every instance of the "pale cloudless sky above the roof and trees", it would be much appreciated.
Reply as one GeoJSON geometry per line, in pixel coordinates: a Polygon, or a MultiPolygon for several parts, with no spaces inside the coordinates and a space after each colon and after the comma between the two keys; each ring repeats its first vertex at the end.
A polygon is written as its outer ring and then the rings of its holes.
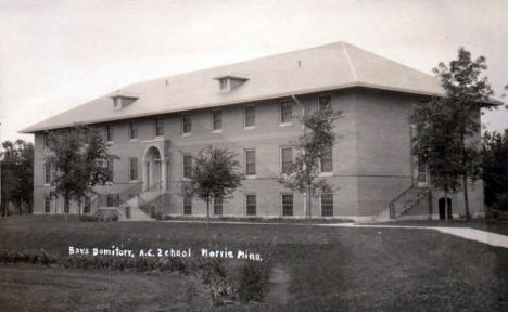
{"type": "Polygon", "coordinates": [[[506,0],[0,0],[0,39],[2,141],[132,82],[336,41],[429,74],[465,47],[508,84],[506,0]]]}

